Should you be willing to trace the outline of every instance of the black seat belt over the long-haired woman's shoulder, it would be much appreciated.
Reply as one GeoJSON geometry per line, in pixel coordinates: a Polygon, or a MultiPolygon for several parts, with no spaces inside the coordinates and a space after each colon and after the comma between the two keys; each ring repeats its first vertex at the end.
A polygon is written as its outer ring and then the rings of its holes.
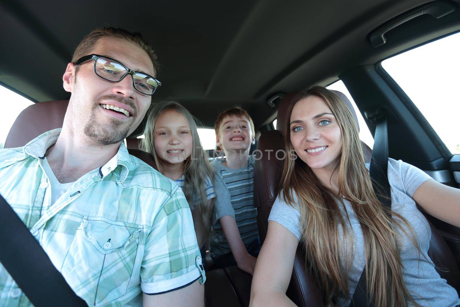
{"type": "MultiPolygon", "coordinates": [[[[391,209],[391,189],[388,182],[388,116],[387,110],[380,108],[374,116],[368,116],[374,122],[374,149],[372,150],[371,165],[369,169],[372,187],[382,206],[391,209]],[[382,195],[383,194],[383,195],[382,195]]],[[[350,307],[374,307],[368,295],[366,283],[366,269],[362,271],[355,293],[351,298],[350,307]]]]}

